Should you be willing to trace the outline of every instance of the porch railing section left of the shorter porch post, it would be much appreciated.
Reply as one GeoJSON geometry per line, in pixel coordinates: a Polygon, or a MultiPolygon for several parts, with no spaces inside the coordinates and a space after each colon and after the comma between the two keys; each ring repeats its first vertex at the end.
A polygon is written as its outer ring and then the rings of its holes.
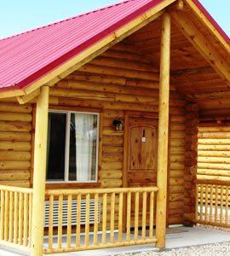
{"type": "Polygon", "coordinates": [[[32,189],[0,185],[0,242],[26,249],[31,245],[32,189]]]}

